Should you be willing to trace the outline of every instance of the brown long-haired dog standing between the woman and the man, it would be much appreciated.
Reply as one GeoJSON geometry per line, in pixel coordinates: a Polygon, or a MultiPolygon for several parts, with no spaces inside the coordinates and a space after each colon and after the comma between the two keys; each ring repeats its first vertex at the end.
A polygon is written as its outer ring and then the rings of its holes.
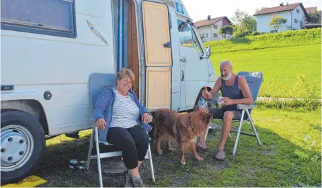
{"type": "Polygon", "coordinates": [[[154,134],[157,141],[158,154],[162,155],[161,141],[166,140],[169,151],[175,151],[171,147],[171,140],[175,139],[180,146],[181,163],[184,165],[184,151],[190,147],[191,152],[197,160],[202,160],[196,152],[196,138],[200,136],[212,119],[212,114],[200,110],[197,106],[193,107],[193,112],[180,114],[171,109],[157,109],[155,111],[154,134]]]}

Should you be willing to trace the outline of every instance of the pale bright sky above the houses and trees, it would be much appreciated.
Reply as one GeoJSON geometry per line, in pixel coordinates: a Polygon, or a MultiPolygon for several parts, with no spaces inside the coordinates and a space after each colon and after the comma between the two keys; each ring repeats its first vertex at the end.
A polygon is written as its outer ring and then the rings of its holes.
{"type": "Polygon", "coordinates": [[[253,15],[256,8],[279,6],[280,3],[289,4],[303,3],[304,7],[317,7],[318,10],[322,8],[321,0],[181,0],[186,7],[189,16],[193,22],[207,19],[208,15],[211,18],[226,16],[231,20],[234,12],[239,8],[253,15]]]}

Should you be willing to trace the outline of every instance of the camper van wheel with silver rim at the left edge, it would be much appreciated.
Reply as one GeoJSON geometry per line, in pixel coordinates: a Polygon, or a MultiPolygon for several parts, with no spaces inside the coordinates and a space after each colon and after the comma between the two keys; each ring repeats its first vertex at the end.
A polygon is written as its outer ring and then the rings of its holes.
{"type": "Polygon", "coordinates": [[[1,109],[1,185],[29,176],[45,147],[44,129],[37,118],[17,109],[1,109]]]}

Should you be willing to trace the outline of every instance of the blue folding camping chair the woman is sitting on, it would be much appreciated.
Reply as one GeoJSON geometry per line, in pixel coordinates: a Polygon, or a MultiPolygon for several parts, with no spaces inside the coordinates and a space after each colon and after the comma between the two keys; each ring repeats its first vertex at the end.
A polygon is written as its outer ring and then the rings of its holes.
{"type": "MultiPolygon", "coordinates": [[[[95,102],[100,95],[100,93],[107,87],[111,87],[115,85],[116,83],[116,74],[102,74],[102,73],[93,73],[89,76],[88,79],[88,90],[89,90],[89,96],[91,99],[91,106],[92,108],[95,105],[95,102]]],[[[93,112],[93,109],[92,109],[93,112]]],[[[93,116],[93,115],[92,115],[93,116]]],[[[93,119],[92,119],[93,121],[93,119]]],[[[141,126],[146,130],[147,134],[148,132],[151,131],[152,126],[149,124],[145,124],[141,122],[141,126]]],[[[107,143],[105,141],[101,141],[98,139],[98,132],[97,132],[97,127],[95,126],[95,122],[93,122],[93,131],[91,134],[91,141],[89,143],[89,149],[88,149],[88,156],[87,156],[87,161],[86,161],[86,170],[89,169],[89,164],[91,159],[97,159],[97,170],[98,170],[98,176],[100,180],[100,187],[103,187],[103,181],[102,181],[102,168],[101,168],[101,158],[110,158],[110,157],[115,157],[115,156],[122,156],[122,151],[117,151],[117,152],[105,152],[105,153],[100,153],[100,144],[106,145],[106,147],[111,146],[111,143],[107,143]],[[95,147],[96,147],[96,155],[92,156],[92,149],[94,147],[94,142],[95,142],[95,147]]],[[[155,182],[155,177],[154,177],[154,171],[153,171],[153,163],[152,163],[152,155],[151,155],[151,148],[150,148],[150,143],[149,143],[149,148],[148,148],[148,154],[149,154],[149,162],[150,162],[150,168],[151,168],[151,176],[152,176],[152,181],[155,182]]]]}

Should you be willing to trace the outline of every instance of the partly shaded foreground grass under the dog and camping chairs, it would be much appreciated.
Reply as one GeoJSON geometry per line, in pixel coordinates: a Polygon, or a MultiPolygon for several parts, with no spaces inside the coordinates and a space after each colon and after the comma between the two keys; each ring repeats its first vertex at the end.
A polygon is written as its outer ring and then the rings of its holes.
{"type": "MultiPolygon", "coordinates": [[[[234,61],[234,60],[233,60],[234,61]]],[[[198,149],[202,161],[187,154],[186,165],[180,165],[178,152],[156,156],[153,165],[156,182],[150,182],[149,161],[141,170],[147,187],[291,187],[321,186],[321,112],[286,112],[258,108],[254,123],[261,138],[240,136],[236,156],[231,156],[236,134],[227,140],[224,161],[214,159],[220,132],[209,132],[207,151],[198,149]]],[[[245,124],[243,130],[250,130],[245,124]]],[[[41,187],[97,187],[95,160],[89,171],[68,169],[68,160],[85,160],[91,131],[81,132],[79,140],[59,136],[48,140],[41,167],[36,175],[48,180],[41,187]]],[[[124,180],[109,178],[105,187],[122,187],[124,180]]]]}

